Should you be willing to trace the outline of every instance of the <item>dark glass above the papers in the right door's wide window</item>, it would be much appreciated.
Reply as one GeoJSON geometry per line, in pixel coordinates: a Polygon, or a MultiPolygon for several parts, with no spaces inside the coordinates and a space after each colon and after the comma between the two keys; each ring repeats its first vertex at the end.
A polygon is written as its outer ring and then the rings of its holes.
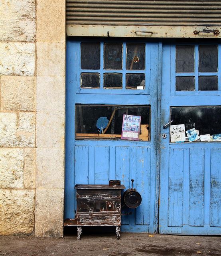
{"type": "Polygon", "coordinates": [[[221,106],[170,107],[170,118],[172,124],[185,124],[185,130],[199,130],[199,135],[221,133],[221,106]]]}

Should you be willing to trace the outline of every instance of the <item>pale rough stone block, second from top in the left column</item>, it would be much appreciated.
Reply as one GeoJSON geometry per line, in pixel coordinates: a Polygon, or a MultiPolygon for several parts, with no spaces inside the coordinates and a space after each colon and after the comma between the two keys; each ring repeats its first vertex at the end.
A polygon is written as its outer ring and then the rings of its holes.
{"type": "Polygon", "coordinates": [[[33,76],[35,74],[35,44],[1,42],[0,74],[33,76]]]}

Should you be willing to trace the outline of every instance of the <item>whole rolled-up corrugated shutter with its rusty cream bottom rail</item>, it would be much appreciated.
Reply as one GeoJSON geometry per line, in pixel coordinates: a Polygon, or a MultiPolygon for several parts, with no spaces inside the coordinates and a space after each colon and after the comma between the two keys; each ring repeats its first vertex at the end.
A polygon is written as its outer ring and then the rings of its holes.
{"type": "MultiPolygon", "coordinates": [[[[129,34],[130,36],[138,36],[138,33],[140,33],[140,36],[142,34],[144,34],[143,36],[150,36],[150,32],[155,32],[155,34],[151,34],[152,37],[162,37],[162,31],[144,30],[143,32],[138,28],[155,28],[156,30],[163,26],[163,34],[165,35],[163,37],[171,37],[170,30],[172,28],[169,29],[168,27],[176,27],[174,31],[179,31],[182,27],[191,27],[191,36],[189,36],[189,31],[185,31],[188,36],[181,33],[182,37],[220,37],[218,32],[215,32],[217,34],[213,31],[209,32],[209,30],[219,30],[219,26],[221,26],[221,1],[219,0],[67,0],[66,2],[68,33],[70,33],[70,28],[73,28],[73,32],[74,28],[80,25],[81,35],[84,36],[85,34],[82,33],[86,32],[86,28],[91,27],[93,30],[93,26],[96,26],[96,28],[100,27],[102,31],[99,33],[93,31],[95,36],[101,36],[104,33],[104,36],[108,36],[107,29],[104,31],[102,28],[110,28],[109,30],[111,30],[112,26],[115,26],[115,28],[117,26],[117,30],[119,28],[122,30],[127,26],[129,30],[132,27],[134,28],[134,33],[131,33],[132,30],[129,31],[129,33],[134,34],[129,34]],[[199,32],[198,34],[193,33],[192,28],[194,27],[199,32]],[[201,32],[200,30],[203,29],[204,32],[201,32]]],[[[90,34],[90,36],[93,36],[93,34],[90,34]]],[[[115,36],[115,33],[111,30],[109,36],[115,36]]],[[[176,36],[176,33],[174,36],[176,36]]]]}

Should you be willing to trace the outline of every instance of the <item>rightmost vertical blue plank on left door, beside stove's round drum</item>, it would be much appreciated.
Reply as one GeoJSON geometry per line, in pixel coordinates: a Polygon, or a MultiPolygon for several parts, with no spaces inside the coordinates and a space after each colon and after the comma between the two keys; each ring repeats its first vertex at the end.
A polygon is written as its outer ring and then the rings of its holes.
{"type": "Polygon", "coordinates": [[[136,147],[136,190],[142,196],[141,205],[136,208],[136,224],[150,224],[150,156],[147,147],[136,147]]]}

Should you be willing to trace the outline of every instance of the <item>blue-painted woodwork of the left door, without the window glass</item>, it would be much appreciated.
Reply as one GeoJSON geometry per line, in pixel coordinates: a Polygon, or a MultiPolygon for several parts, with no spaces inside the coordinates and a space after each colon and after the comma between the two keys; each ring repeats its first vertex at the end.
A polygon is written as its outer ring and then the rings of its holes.
{"type": "MultiPolygon", "coordinates": [[[[85,41],[85,40],[84,40],[85,41]]],[[[86,40],[87,41],[87,40],[86,40]]],[[[76,210],[75,184],[108,184],[119,179],[126,189],[134,187],[142,196],[142,203],[136,209],[123,208],[132,215],[122,216],[124,232],[157,232],[158,184],[156,177],[156,131],[158,57],[161,44],[146,43],[145,90],[122,90],[79,88],[80,84],[80,41],[67,40],[66,67],[66,158],[65,158],[65,218],[74,218],[76,210]],[[150,105],[150,141],[128,140],[75,140],[75,104],[150,105]]],[[[123,68],[126,65],[126,42],[123,42],[123,68]]],[[[101,44],[101,54],[103,43],[101,44]]],[[[102,62],[102,55],[101,55],[102,62]]],[[[87,71],[87,70],[86,70],[87,71]]],[[[83,72],[86,72],[83,70],[83,72]]],[[[97,71],[96,71],[97,72],[97,71]]],[[[103,64],[101,64],[102,75],[103,64]]],[[[107,71],[106,71],[107,72],[107,71]]],[[[108,70],[108,72],[115,72],[108,70]]],[[[122,71],[122,74],[140,73],[139,70],[122,71]]],[[[142,71],[143,72],[143,71],[142,71]]]]}

